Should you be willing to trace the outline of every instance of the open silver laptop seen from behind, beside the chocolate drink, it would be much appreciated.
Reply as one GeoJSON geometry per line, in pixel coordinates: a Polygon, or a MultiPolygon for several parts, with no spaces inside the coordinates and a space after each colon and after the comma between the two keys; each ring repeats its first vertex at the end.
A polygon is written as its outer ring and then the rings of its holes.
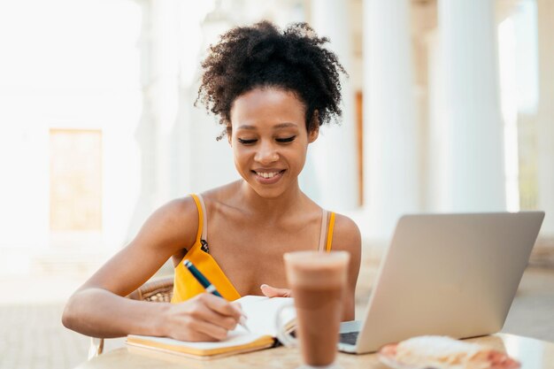
{"type": "Polygon", "coordinates": [[[363,354],[416,335],[500,331],[543,218],[543,211],[405,215],[364,319],[341,325],[339,350],[363,354]]]}

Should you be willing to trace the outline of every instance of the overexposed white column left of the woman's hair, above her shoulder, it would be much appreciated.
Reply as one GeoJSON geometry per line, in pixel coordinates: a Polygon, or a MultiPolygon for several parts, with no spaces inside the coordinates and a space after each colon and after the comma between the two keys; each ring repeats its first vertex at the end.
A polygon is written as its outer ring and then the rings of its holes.
{"type": "Polygon", "coordinates": [[[140,190],[127,227],[135,237],[152,211],[172,197],[172,132],[179,98],[177,35],[174,0],[142,3],[142,112],[135,129],[140,151],[140,190]]]}

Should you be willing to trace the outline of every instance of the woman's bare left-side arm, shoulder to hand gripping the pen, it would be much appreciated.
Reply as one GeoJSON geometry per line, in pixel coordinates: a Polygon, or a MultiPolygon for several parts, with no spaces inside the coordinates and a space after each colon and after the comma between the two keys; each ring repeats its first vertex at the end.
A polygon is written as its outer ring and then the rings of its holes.
{"type": "Polygon", "coordinates": [[[165,264],[195,242],[196,204],[175,200],[150,216],[135,240],[120,250],[70,297],[65,327],[95,337],[126,334],[213,341],[227,336],[241,311],[224,299],[202,294],[182,304],[148,303],[125,298],[165,264]]]}

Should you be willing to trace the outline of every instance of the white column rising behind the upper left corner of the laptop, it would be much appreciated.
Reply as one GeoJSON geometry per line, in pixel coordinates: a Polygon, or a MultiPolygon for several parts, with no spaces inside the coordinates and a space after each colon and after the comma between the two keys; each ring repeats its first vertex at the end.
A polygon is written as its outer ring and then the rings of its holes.
{"type": "Polygon", "coordinates": [[[419,210],[408,0],[364,1],[365,233],[388,238],[419,210]]]}

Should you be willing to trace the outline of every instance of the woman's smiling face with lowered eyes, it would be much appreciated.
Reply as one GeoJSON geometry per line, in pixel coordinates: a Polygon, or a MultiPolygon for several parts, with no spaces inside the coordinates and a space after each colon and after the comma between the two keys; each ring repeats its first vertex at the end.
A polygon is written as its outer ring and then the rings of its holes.
{"type": "Polygon", "coordinates": [[[231,127],[235,167],[259,196],[276,197],[298,188],[308,143],[319,131],[307,132],[305,106],[294,93],[254,88],[238,96],[231,127]]]}

